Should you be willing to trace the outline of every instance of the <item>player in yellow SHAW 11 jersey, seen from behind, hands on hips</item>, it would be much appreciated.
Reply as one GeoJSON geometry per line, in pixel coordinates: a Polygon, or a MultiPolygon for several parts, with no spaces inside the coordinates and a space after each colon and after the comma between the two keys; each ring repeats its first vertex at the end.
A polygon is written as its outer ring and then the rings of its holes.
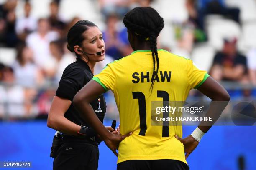
{"type": "Polygon", "coordinates": [[[182,126],[151,126],[151,101],[185,101],[192,88],[212,100],[228,101],[228,92],[191,60],[157,50],[156,38],[164,20],[153,8],[136,7],[123,23],[134,52],[95,75],[74,97],[74,105],[118,155],[118,170],[188,170],[186,158],[210,126],[199,126],[184,139],[180,138],[182,126]],[[115,95],[120,133],[132,132],[127,138],[109,133],[90,106],[108,89],[115,95]]]}

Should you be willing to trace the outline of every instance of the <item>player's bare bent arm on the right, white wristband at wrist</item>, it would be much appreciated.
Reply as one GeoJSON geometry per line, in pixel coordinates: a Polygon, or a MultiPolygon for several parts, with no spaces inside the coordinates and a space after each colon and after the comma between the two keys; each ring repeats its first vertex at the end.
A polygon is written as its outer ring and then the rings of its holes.
{"type": "MultiPolygon", "coordinates": [[[[230,96],[228,95],[228,92],[212,77],[208,77],[207,80],[198,88],[198,90],[210,99],[212,99],[208,112],[205,116],[212,116],[213,125],[218,120],[225,107],[228,105],[230,96]],[[222,101],[221,104],[218,101],[222,101]]],[[[206,126],[205,123],[206,122],[200,122],[198,126],[198,128],[204,133],[206,133],[212,127],[209,125],[206,126]]],[[[179,138],[177,135],[175,135],[175,137],[181,143],[183,143],[186,153],[185,158],[187,159],[189,154],[192,153],[193,150],[195,150],[199,142],[195,140],[191,135],[184,139],[179,138]]]]}

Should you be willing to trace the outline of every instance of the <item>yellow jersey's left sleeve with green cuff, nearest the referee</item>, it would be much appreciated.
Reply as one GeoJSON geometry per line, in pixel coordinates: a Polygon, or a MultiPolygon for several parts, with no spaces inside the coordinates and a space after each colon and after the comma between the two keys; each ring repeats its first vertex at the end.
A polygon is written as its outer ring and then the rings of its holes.
{"type": "Polygon", "coordinates": [[[113,91],[115,84],[115,74],[111,64],[106,65],[100,74],[95,75],[92,80],[98,82],[106,91],[109,89],[113,91]]]}

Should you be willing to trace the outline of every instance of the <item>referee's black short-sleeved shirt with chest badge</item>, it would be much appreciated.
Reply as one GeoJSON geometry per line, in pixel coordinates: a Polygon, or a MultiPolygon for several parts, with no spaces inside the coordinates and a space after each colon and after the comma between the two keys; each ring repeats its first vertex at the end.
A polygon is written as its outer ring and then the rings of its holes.
{"type": "MultiPolygon", "coordinates": [[[[87,84],[93,77],[92,71],[89,66],[81,59],[77,58],[77,61],[73,62],[64,70],[59,87],[56,91],[56,96],[73,100],[74,95],[87,84]]],[[[97,117],[103,122],[103,118],[106,112],[106,102],[103,95],[97,97],[91,103],[93,110],[97,117]]],[[[83,120],[79,112],[74,108],[73,103],[70,105],[64,117],[74,122],[77,125],[84,125],[89,127],[88,123],[83,120]]]]}

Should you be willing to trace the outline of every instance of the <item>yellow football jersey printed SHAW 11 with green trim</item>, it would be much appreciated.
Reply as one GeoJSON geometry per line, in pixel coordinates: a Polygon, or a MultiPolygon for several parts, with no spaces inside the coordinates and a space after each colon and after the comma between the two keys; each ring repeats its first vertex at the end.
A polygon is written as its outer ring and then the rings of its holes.
{"type": "Polygon", "coordinates": [[[167,126],[165,130],[163,126],[151,126],[151,101],[185,101],[189,90],[199,87],[209,75],[184,57],[161,49],[158,56],[157,75],[152,74],[151,50],[140,50],[108,64],[92,78],[105,90],[113,91],[120,115],[120,133],[133,132],[119,144],[118,163],[157,159],[187,163],[184,145],[174,137],[175,134],[182,137],[182,126],[167,126]]]}

